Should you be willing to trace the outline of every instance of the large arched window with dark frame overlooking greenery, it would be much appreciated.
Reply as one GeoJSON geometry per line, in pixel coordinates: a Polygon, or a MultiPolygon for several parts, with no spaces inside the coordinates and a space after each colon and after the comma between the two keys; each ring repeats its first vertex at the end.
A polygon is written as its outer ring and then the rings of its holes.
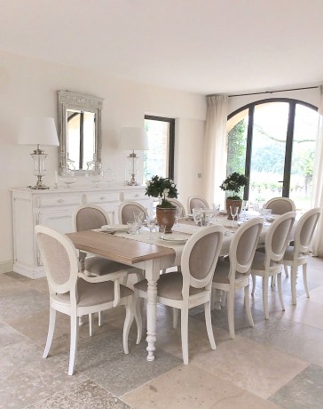
{"type": "Polygon", "coordinates": [[[228,116],[226,170],[248,176],[245,199],[286,196],[298,209],[310,208],[318,122],[316,107],[286,98],[259,100],[228,116]]]}

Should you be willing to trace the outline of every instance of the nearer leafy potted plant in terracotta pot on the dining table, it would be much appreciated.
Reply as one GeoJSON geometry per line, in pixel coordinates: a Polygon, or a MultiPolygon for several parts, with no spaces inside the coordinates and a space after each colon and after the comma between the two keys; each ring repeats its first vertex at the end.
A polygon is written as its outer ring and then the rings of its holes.
{"type": "Polygon", "coordinates": [[[160,204],[156,206],[156,218],[159,226],[166,227],[166,233],[171,233],[175,223],[176,206],[172,205],[169,198],[177,198],[177,187],[173,180],[153,176],[146,181],[146,196],[160,198],[160,204]]]}

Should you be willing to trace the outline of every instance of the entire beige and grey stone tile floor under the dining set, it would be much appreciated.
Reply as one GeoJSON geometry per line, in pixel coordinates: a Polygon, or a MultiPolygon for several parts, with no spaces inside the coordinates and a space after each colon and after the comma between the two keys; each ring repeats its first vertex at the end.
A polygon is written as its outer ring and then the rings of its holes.
{"type": "MultiPolygon", "coordinates": [[[[255,326],[248,326],[243,294],[236,294],[236,338],[226,309],[212,311],[217,350],[209,348],[201,309],[190,312],[190,364],[182,364],[180,329],[171,310],[158,306],[156,359],[146,362],[146,342],[123,354],[122,308],[80,328],[75,375],[67,375],[68,317],[58,315],[51,355],[43,359],[48,325],[46,279],[0,274],[0,408],[322,408],[323,260],[309,259],[311,298],[297,280],[291,305],[290,278],[283,274],[285,311],[277,289],[264,320],[261,282],[252,299],[255,326]]],[[[146,314],[145,305],[143,314],[146,314]]],[[[145,337],[143,337],[145,338],[145,337]]]]}

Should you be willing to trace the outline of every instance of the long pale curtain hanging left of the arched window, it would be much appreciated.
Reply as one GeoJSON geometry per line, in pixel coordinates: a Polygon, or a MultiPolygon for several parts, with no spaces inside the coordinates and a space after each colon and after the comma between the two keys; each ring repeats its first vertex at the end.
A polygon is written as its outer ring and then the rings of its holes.
{"type": "Polygon", "coordinates": [[[203,196],[209,204],[225,203],[225,192],[219,186],[226,176],[226,117],[227,95],[207,97],[208,111],[205,128],[203,196]]]}

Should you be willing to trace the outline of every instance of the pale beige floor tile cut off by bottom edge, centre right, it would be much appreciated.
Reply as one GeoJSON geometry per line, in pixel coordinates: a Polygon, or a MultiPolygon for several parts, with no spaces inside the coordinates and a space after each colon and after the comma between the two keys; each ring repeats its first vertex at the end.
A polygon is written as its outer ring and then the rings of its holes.
{"type": "Polygon", "coordinates": [[[270,409],[279,407],[194,365],[182,365],[124,395],[137,409],[270,409]],[[273,405],[273,406],[272,406],[273,405]]]}

